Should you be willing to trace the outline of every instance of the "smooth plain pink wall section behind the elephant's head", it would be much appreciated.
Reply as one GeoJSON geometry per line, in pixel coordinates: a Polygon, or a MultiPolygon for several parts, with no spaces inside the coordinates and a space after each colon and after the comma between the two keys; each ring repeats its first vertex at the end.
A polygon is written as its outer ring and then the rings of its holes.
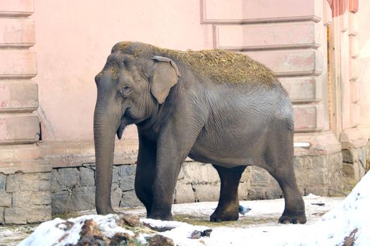
{"type": "MultiPolygon", "coordinates": [[[[198,0],[35,1],[42,140],[92,139],[94,76],[113,44],[142,41],[186,50],[213,48],[198,0]],[[155,21],[154,21],[155,20],[155,21]]],[[[125,133],[135,138],[135,128],[125,133]]]]}

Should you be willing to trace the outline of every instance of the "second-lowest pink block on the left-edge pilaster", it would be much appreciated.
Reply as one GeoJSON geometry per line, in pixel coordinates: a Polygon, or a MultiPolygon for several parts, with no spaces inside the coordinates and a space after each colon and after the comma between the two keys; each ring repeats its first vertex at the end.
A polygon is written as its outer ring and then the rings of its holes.
{"type": "Polygon", "coordinates": [[[31,80],[0,80],[0,112],[33,112],[39,107],[37,84],[31,80]]]}

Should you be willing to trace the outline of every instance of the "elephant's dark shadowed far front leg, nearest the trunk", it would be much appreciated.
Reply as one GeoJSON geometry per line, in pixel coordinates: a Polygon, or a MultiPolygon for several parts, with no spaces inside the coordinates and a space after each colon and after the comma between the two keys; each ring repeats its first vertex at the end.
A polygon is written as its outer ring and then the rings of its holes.
{"type": "Polygon", "coordinates": [[[153,202],[153,183],[156,172],[156,143],[139,133],[139,154],[135,174],[135,193],[150,216],[153,202]]]}

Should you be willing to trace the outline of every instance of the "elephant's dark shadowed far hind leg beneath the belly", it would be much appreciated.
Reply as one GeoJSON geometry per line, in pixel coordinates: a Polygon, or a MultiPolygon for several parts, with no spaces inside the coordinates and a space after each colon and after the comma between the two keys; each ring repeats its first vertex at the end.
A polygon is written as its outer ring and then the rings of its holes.
{"type": "Polygon", "coordinates": [[[238,186],[242,173],[247,166],[226,168],[214,165],[221,179],[221,190],[218,205],[211,221],[236,221],[239,218],[238,186]]]}

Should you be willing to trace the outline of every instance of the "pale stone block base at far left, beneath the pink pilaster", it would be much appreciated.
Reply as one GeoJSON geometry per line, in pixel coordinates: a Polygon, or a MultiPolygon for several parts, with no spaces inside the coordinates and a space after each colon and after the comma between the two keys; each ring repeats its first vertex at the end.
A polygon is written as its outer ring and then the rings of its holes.
{"type": "Polygon", "coordinates": [[[51,219],[50,174],[0,173],[0,224],[51,219]]]}

